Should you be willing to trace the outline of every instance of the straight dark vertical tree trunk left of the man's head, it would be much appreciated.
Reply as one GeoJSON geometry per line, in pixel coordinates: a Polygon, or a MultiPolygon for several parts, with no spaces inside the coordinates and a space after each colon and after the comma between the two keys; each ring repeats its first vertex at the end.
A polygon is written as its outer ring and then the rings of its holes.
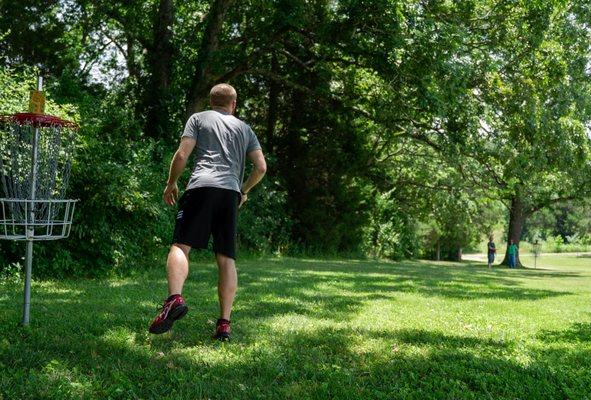
{"type": "Polygon", "coordinates": [[[172,78],[172,25],[174,23],[173,0],[160,0],[154,19],[154,37],[148,60],[150,80],[146,90],[146,135],[160,138],[169,133],[170,82],[172,78]]]}

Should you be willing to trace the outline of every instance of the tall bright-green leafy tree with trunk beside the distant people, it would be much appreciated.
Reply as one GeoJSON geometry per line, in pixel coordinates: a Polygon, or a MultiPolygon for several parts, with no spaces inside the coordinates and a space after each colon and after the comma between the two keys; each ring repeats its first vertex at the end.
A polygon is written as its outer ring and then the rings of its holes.
{"type": "Polygon", "coordinates": [[[408,61],[416,69],[406,88],[423,95],[406,99],[404,113],[374,118],[398,132],[376,148],[387,154],[408,137],[436,150],[479,196],[505,202],[507,240],[519,243],[532,213],[589,196],[589,5],[425,2],[417,10],[414,52],[393,76],[404,76],[408,61]]]}

